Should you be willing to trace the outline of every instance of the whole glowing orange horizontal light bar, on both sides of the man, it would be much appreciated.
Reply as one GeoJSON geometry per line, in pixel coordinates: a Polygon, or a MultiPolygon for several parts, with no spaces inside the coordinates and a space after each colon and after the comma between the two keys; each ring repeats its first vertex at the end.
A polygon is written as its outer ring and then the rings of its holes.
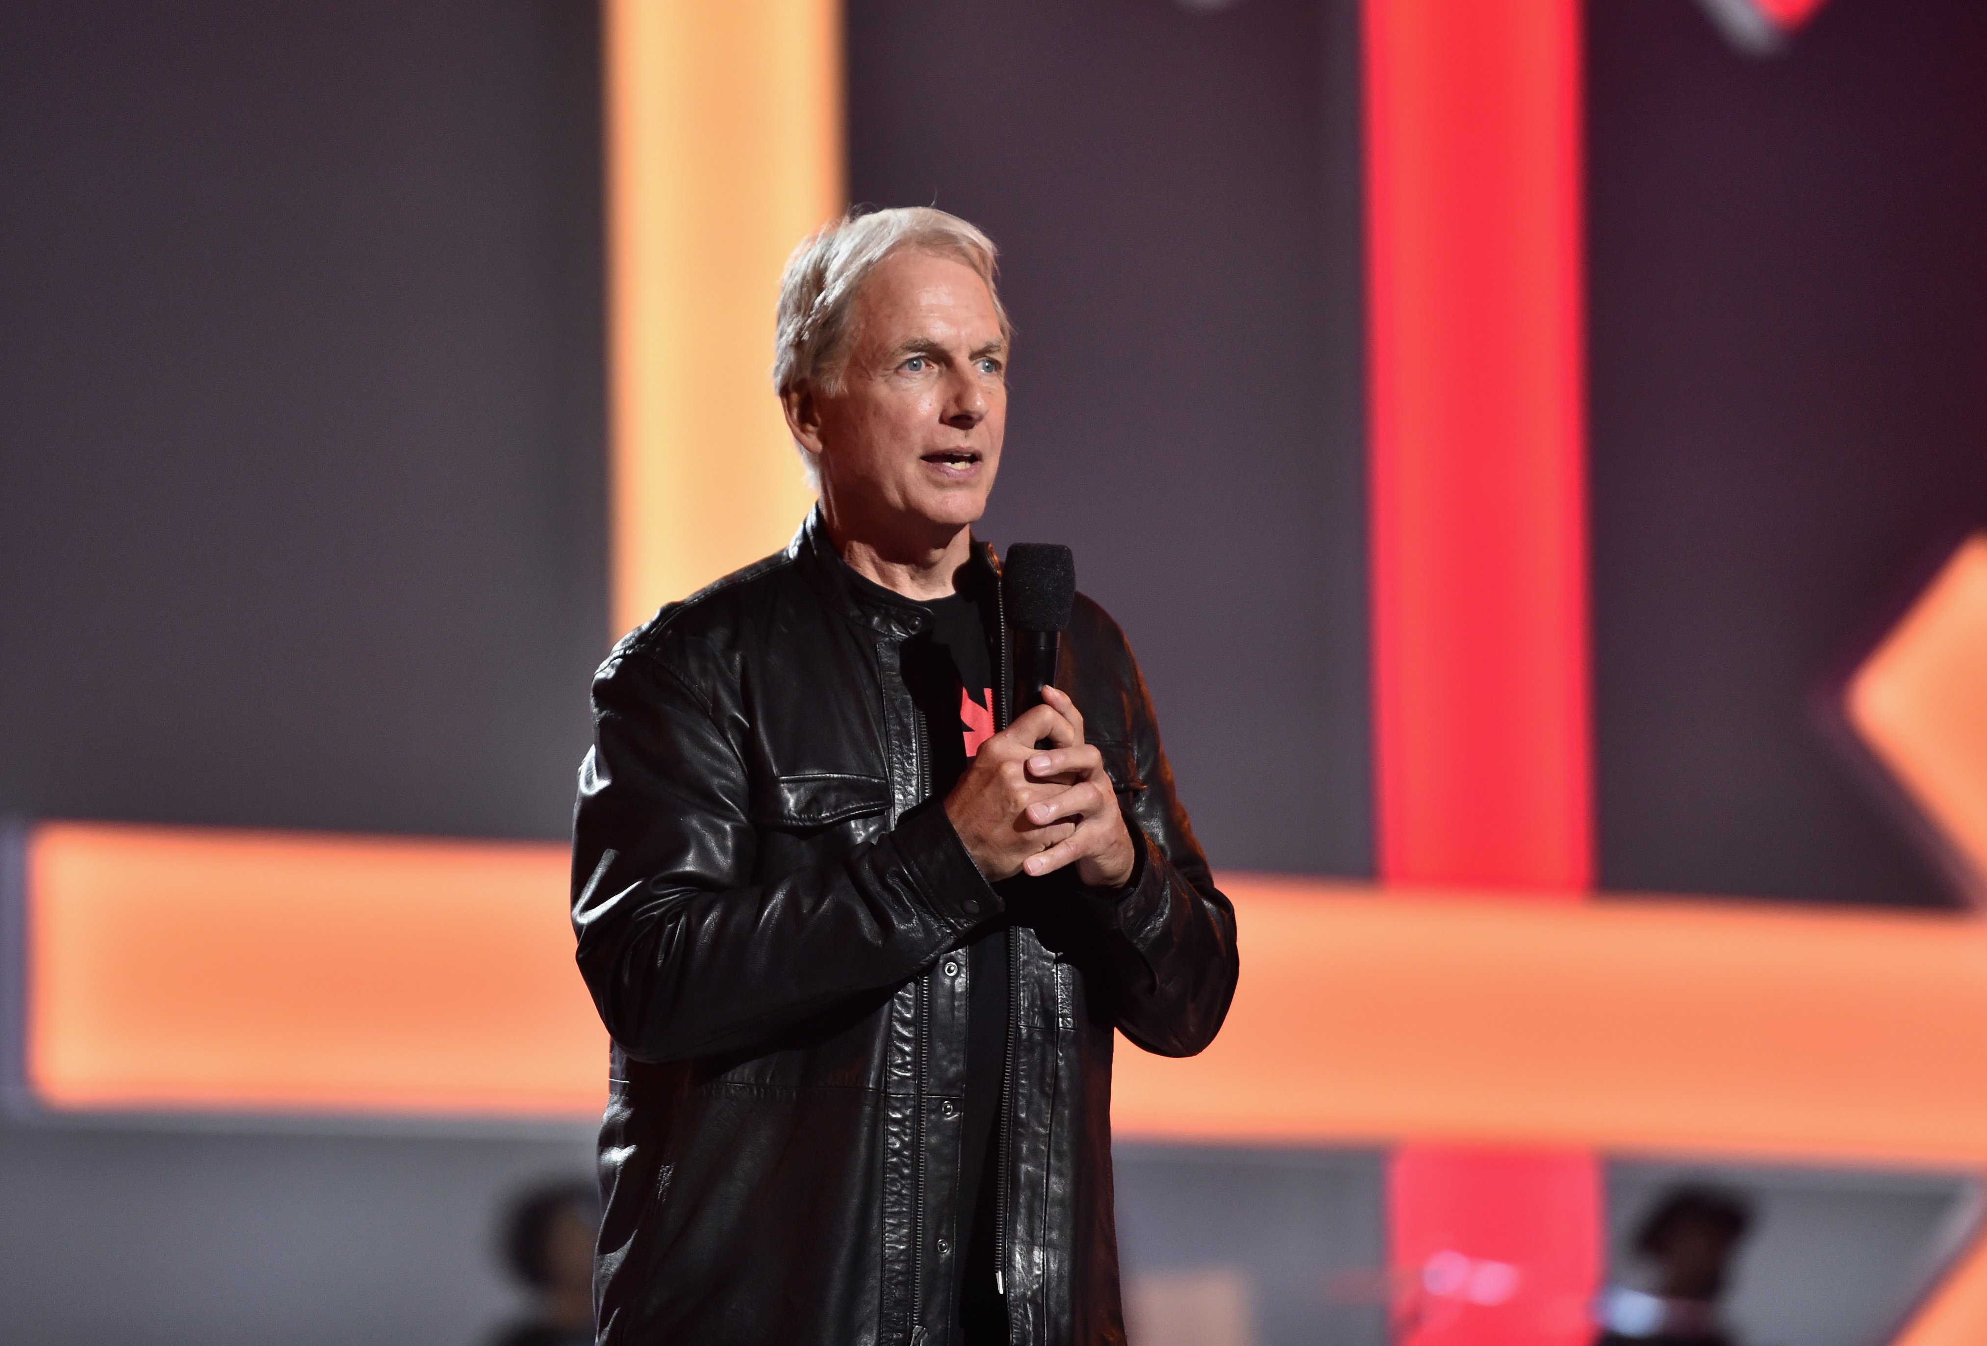
{"type": "MultiPolygon", "coordinates": [[[[1987,923],[1532,905],[1226,879],[1198,1058],[1119,1058],[1123,1135],[1987,1163],[1987,923]]],[[[594,1113],[566,849],[50,823],[28,1074],[58,1107],[594,1113]]]]}

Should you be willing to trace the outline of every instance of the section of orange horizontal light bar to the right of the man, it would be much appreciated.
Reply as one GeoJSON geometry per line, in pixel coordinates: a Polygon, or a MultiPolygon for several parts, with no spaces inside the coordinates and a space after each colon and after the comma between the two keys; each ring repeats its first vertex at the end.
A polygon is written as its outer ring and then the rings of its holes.
{"type": "Polygon", "coordinates": [[[1228,877],[1220,1038],[1121,1135],[1987,1163],[1987,923],[1228,877]]]}

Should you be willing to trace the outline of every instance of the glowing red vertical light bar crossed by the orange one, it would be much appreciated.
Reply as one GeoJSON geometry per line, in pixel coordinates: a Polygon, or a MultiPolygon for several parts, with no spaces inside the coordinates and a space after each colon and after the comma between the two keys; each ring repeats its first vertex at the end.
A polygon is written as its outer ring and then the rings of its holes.
{"type": "MultiPolygon", "coordinates": [[[[1580,0],[1367,0],[1373,736],[1389,883],[1592,881],[1580,0]]],[[[1594,1155],[1407,1147],[1413,1346],[1584,1346],[1594,1155]]]]}

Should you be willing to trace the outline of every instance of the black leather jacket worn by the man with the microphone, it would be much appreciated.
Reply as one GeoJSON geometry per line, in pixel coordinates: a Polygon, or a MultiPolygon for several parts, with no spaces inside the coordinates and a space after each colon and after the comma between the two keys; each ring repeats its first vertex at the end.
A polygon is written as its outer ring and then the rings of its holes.
{"type": "Polygon", "coordinates": [[[1123,895],[988,885],[926,799],[896,674],[924,610],[852,579],[817,513],[785,553],[658,612],[594,680],[572,925],[614,1040],[598,1340],[950,1342],[962,946],[1009,913],[1011,1340],[1123,1342],[1113,1028],[1166,1056],[1212,1042],[1234,909],[1131,650],[1087,598],[1057,682],[1143,833],[1137,877],[1123,895]]]}

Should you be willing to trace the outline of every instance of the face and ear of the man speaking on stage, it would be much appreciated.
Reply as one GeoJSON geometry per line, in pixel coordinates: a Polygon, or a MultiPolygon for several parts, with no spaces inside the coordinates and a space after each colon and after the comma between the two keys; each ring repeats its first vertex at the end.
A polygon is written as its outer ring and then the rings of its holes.
{"type": "Polygon", "coordinates": [[[839,392],[789,396],[829,515],[878,547],[944,547],[988,507],[1007,342],[980,276],[904,249],[856,292],[839,392]]]}

